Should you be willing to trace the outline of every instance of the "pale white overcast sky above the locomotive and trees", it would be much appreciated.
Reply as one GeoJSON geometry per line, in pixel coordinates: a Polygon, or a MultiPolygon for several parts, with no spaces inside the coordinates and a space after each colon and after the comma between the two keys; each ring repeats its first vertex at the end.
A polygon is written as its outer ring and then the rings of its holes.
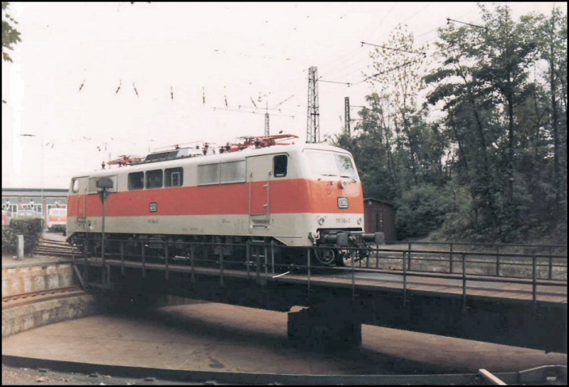
{"type": "MultiPolygon", "coordinates": [[[[506,4],[517,19],[554,3],[506,4]]],[[[2,186],[46,189],[122,154],[260,136],[265,107],[280,109],[268,110],[271,134],[304,141],[310,66],[355,83],[371,67],[361,41],[384,43],[402,23],[432,45],[447,18],[480,21],[459,2],[13,2],[9,13],[21,42],[2,62],[2,186]]],[[[344,97],[364,105],[373,89],[318,91],[324,139],[343,128],[344,97]]]]}

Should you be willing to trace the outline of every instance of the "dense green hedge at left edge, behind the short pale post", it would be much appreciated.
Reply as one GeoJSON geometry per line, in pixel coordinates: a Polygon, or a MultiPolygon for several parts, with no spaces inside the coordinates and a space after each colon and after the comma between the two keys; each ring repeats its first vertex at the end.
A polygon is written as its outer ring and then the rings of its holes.
{"type": "Polygon", "coordinates": [[[2,253],[16,253],[18,235],[23,235],[23,253],[31,253],[38,245],[42,231],[43,221],[39,218],[12,219],[10,226],[2,229],[2,253]]]}

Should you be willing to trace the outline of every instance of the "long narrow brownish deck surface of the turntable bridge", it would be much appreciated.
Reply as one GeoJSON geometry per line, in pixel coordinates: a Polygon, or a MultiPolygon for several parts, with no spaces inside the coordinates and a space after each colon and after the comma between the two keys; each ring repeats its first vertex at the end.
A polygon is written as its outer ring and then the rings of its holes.
{"type": "MultiPolygon", "coordinates": [[[[83,259],[76,260],[82,263],[83,259]]],[[[89,265],[102,265],[100,258],[89,258],[89,265]]],[[[107,265],[120,267],[121,260],[107,259],[107,265]]],[[[143,263],[134,261],[124,261],[124,267],[143,268],[143,263]]],[[[196,275],[212,275],[220,277],[218,267],[201,267],[195,266],[193,269],[190,265],[171,264],[166,268],[163,263],[144,263],[146,270],[162,270],[169,272],[186,272],[191,273],[192,270],[196,275]]],[[[279,275],[281,273],[275,273],[279,275]]],[[[268,282],[282,283],[306,283],[310,281],[311,286],[326,285],[336,287],[352,287],[355,283],[357,289],[385,291],[385,292],[403,292],[403,272],[386,272],[385,270],[359,269],[353,273],[354,282],[352,282],[351,268],[331,268],[326,270],[314,269],[308,275],[306,270],[299,272],[289,272],[286,275],[275,277],[270,272],[265,274],[265,270],[259,273],[260,280],[268,282]],[[322,272],[325,272],[324,274],[322,272]]],[[[250,273],[246,270],[223,269],[223,277],[257,277],[254,266],[250,273]]],[[[536,300],[542,304],[567,304],[567,282],[557,280],[538,280],[536,282],[536,300]]],[[[492,278],[479,275],[467,275],[467,295],[469,298],[485,298],[507,300],[509,302],[524,302],[533,300],[533,284],[532,280],[519,278],[492,278]],[[515,281],[505,282],[505,280],[515,281]]],[[[435,297],[462,297],[462,275],[460,274],[442,274],[425,272],[407,272],[406,281],[407,294],[418,293],[421,295],[431,295],[435,297]],[[435,277],[435,275],[437,277],[435,277]]]]}

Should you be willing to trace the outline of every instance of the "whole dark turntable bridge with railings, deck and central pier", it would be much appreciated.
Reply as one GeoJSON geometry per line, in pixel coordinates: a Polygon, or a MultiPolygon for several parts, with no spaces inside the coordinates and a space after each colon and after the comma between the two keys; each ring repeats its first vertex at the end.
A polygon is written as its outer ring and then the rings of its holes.
{"type": "Polygon", "coordinates": [[[83,287],[119,307],[176,295],[288,312],[289,338],[325,349],[361,344],[361,324],[371,324],[567,353],[566,255],[412,255],[376,245],[330,267],[317,264],[314,249],[302,265],[283,265],[273,243],[240,247],[239,258],[229,255],[235,245],[191,243],[184,256],[140,245],[134,256],[73,253],[73,261],[83,287]]]}

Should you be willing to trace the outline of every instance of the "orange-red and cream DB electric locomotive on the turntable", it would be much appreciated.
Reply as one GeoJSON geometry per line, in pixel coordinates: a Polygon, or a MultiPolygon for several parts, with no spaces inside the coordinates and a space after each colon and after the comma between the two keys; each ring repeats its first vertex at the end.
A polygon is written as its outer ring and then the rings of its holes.
{"type": "Polygon", "coordinates": [[[68,197],[69,240],[97,239],[102,232],[97,180],[108,177],[113,184],[106,202],[107,251],[117,249],[112,240],[182,245],[255,239],[329,246],[317,258],[339,260],[339,244],[361,244],[364,235],[363,191],[353,158],[327,144],[277,142],[283,137],[248,137],[216,154],[176,147],[122,168],[75,176],[68,197]]]}

